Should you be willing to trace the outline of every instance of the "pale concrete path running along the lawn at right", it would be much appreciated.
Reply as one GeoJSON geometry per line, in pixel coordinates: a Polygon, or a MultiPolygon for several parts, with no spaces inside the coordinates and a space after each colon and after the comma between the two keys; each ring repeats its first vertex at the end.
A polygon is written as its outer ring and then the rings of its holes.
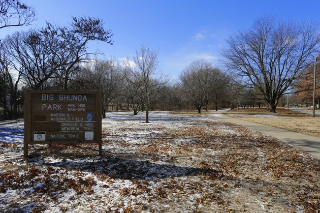
{"type": "Polygon", "coordinates": [[[267,126],[255,122],[247,122],[240,119],[235,119],[226,115],[219,115],[225,122],[241,125],[264,134],[275,137],[283,142],[299,148],[302,151],[308,152],[315,158],[320,159],[320,138],[311,135],[305,135],[297,132],[288,131],[281,128],[267,126]]]}

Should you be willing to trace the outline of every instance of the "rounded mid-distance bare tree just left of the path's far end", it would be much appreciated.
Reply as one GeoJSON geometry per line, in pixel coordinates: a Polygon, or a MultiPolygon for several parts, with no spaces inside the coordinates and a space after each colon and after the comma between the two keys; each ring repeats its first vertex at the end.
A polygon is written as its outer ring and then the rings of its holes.
{"type": "Polygon", "coordinates": [[[205,60],[193,61],[180,74],[181,88],[198,113],[206,103],[214,87],[215,72],[212,64],[205,60]]]}

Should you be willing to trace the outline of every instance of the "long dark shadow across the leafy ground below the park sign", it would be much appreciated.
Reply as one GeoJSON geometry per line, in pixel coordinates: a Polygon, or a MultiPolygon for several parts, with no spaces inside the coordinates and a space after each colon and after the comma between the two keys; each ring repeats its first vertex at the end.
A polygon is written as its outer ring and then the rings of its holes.
{"type": "Polygon", "coordinates": [[[156,155],[132,155],[57,153],[59,151],[33,152],[27,161],[32,164],[60,167],[71,170],[82,170],[90,173],[101,173],[116,179],[125,180],[155,180],[169,177],[186,177],[198,174],[222,172],[214,169],[204,169],[191,166],[178,166],[170,159],[156,155]],[[35,154],[35,155],[34,155],[35,154]],[[52,160],[55,158],[55,160],[52,160]],[[154,160],[152,160],[154,159],[154,160]],[[158,160],[160,159],[160,160],[158,160]]]}

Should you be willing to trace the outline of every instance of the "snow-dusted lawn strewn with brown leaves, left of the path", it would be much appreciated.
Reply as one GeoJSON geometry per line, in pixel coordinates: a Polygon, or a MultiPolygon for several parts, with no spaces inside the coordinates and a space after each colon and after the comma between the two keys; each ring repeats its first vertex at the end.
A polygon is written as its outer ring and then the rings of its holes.
{"type": "Polygon", "coordinates": [[[317,213],[320,160],[214,112],[112,112],[97,145],[30,145],[0,122],[1,213],[317,213]]]}

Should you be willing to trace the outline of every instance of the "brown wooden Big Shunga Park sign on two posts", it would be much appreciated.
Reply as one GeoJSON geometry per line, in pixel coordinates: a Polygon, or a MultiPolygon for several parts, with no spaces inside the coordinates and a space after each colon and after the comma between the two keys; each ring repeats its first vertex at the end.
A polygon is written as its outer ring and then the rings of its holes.
{"type": "Polygon", "coordinates": [[[29,144],[101,142],[102,94],[97,91],[25,92],[24,157],[29,144]]]}

